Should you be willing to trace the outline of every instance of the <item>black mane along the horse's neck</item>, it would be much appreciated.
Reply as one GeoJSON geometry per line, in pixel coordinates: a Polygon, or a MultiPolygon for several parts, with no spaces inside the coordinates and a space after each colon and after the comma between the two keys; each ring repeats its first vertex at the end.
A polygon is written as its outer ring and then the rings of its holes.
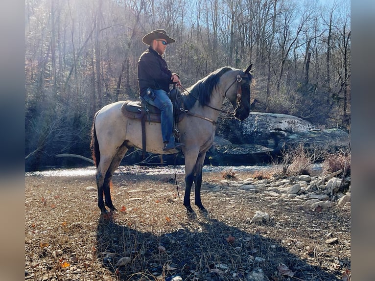
{"type": "Polygon", "coordinates": [[[208,105],[211,100],[212,91],[219,83],[221,75],[229,70],[233,69],[222,67],[215,70],[188,88],[189,93],[186,94],[184,101],[185,109],[190,110],[197,100],[199,100],[199,104],[202,106],[208,105]]]}

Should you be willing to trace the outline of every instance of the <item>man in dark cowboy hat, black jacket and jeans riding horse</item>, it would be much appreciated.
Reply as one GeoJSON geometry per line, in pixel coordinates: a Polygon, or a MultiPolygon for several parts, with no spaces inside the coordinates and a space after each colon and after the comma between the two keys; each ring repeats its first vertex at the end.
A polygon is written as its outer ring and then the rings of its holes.
{"type": "Polygon", "coordinates": [[[175,141],[173,135],[173,105],[169,98],[169,85],[181,86],[180,77],[172,73],[164,59],[167,44],[176,40],[170,38],[163,29],[154,30],[142,38],[148,45],[138,60],[138,86],[140,96],[149,104],[161,110],[161,127],[164,151],[179,152],[182,143],[175,141]]]}

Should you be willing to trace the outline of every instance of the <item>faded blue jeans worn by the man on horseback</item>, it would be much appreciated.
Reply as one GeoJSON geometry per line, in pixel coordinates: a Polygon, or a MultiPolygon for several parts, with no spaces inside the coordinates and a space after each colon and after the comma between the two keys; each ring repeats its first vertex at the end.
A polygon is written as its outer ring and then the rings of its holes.
{"type": "Polygon", "coordinates": [[[151,99],[150,96],[145,94],[143,98],[151,105],[156,106],[161,110],[161,121],[162,121],[162,136],[163,142],[170,141],[171,138],[174,138],[172,135],[173,131],[173,105],[172,101],[169,98],[169,95],[164,90],[153,90],[156,97],[151,99]]]}

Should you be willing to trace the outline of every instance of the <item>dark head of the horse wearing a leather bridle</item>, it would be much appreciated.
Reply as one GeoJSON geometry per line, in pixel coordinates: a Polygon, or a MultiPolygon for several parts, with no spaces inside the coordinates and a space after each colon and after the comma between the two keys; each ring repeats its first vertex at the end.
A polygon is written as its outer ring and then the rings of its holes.
{"type": "Polygon", "coordinates": [[[252,66],[250,64],[246,70],[231,71],[231,79],[228,88],[225,91],[226,97],[232,103],[234,108],[234,117],[244,120],[250,113],[250,84],[253,79],[252,66]]]}

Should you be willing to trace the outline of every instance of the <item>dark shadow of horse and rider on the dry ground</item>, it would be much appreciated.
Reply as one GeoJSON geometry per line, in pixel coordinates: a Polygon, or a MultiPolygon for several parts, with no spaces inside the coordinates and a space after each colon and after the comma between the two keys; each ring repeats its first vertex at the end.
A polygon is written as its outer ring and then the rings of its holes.
{"type": "Polygon", "coordinates": [[[250,234],[203,215],[160,235],[100,218],[96,253],[117,280],[170,281],[175,275],[182,280],[341,280],[339,272],[335,276],[291,253],[281,239],[250,234]],[[118,264],[123,257],[129,257],[128,263],[118,264]],[[284,275],[278,270],[281,263],[290,269],[284,275]],[[263,278],[252,279],[249,274],[259,268],[263,278]]]}

